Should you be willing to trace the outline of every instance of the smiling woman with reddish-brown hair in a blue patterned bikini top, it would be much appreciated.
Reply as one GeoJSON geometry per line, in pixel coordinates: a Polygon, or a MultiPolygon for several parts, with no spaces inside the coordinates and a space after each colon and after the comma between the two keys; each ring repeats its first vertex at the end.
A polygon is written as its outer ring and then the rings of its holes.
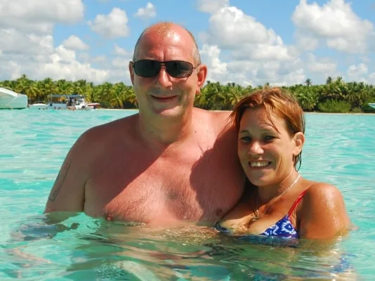
{"type": "Polygon", "coordinates": [[[281,89],[263,89],[239,101],[231,117],[239,160],[254,187],[218,229],[290,238],[343,234],[350,221],[341,192],[298,174],[305,121],[297,101],[281,89]]]}

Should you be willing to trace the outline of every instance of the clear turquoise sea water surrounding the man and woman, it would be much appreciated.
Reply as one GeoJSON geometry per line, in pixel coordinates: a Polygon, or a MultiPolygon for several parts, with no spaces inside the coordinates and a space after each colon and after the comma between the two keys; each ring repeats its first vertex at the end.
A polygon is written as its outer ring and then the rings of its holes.
{"type": "Polygon", "coordinates": [[[343,192],[356,226],[324,246],[240,241],[209,228],[147,230],[42,214],[67,150],[124,110],[0,110],[0,280],[374,280],[375,116],[308,114],[301,174],[343,192]]]}

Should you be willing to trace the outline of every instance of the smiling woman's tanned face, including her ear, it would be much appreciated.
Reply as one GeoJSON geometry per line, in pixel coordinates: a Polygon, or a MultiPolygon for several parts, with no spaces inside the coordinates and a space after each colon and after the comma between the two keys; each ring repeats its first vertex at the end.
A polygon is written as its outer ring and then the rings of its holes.
{"type": "Polygon", "coordinates": [[[264,107],[246,110],[239,124],[238,157],[249,181],[268,186],[280,183],[294,169],[294,156],[303,146],[303,133],[291,136],[284,119],[267,116],[264,107]]]}

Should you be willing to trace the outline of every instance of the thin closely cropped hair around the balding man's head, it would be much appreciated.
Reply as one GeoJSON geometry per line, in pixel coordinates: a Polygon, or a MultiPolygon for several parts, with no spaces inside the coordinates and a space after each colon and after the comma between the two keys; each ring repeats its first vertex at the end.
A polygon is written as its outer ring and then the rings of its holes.
{"type": "MultiPolygon", "coordinates": [[[[151,25],[150,27],[147,27],[145,30],[143,30],[143,32],[140,34],[140,37],[138,37],[138,40],[136,41],[136,46],[134,46],[133,62],[135,62],[138,59],[138,48],[139,48],[140,40],[143,38],[143,35],[145,35],[145,33],[147,31],[149,31],[151,28],[156,28],[158,34],[160,36],[164,37],[166,35],[166,33],[169,32],[173,26],[180,26],[180,25],[176,25],[173,22],[157,22],[156,24],[151,25]]],[[[183,28],[183,30],[185,30],[187,32],[187,34],[190,35],[190,37],[193,41],[192,58],[194,60],[194,63],[196,63],[197,65],[200,65],[201,64],[201,56],[199,54],[199,48],[198,48],[197,40],[195,40],[195,37],[192,34],[192,32],[190,32],[189,30],[187,30],[183,26],[180,26],[180,27],[183,28]]]]}

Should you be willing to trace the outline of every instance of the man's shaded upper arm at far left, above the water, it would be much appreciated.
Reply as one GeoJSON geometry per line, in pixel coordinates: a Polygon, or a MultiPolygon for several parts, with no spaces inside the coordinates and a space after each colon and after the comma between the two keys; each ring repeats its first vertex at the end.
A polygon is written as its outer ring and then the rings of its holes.
{"type": "Polygon", "coordinates": [[[90,154],[86,153],[88,143],[88,133],[84,133],[68,152],[48,196],[45,213],[84,211],[85,185],[90,161],[90,154]]]}

